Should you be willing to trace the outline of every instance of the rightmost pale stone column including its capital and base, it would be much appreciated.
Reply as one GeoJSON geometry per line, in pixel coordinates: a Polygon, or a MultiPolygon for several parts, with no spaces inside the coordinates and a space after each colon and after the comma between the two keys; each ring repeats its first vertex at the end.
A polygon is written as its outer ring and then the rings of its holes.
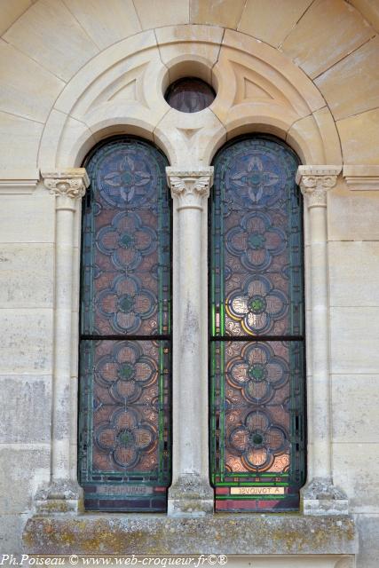
{"type": "Polygon", "coordinates": [[[308,461],[312,478],[303,490],[305,515],[347,514],[347,497],[333,485],[331,394],[329,375],[328,190],[336,185],[341,166],[299,166],[296,183],[309,210],[311,247],[312,381],[308,384],[312,440],[308,461]]]}

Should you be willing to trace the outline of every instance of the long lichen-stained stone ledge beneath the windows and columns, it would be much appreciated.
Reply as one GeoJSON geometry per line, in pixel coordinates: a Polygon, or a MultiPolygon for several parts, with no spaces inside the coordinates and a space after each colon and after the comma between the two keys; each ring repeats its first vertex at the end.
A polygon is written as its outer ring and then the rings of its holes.
{"type": "Polygon", "coordinates": [[[352,517],[230,515],[90,515],[32,517],[23,534],[35,554],[351,555],[358,552],[352,517]]]}

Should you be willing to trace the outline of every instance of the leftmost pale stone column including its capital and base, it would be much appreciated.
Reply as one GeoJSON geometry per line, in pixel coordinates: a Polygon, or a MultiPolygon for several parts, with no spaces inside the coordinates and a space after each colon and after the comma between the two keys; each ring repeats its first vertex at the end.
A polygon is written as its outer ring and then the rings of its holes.
{"type": "Polygon", "coordinates": [[[74,221],[89,185],[83,168],[43,172],[56,200],[54,365],[51,410],[51,483],[36,495],[38,512],[77,511],[82,491],[70,464],[74,221]]]}

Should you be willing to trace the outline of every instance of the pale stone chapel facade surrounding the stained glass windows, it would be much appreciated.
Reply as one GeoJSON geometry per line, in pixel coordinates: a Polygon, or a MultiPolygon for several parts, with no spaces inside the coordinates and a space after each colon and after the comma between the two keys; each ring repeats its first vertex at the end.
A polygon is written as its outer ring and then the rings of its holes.
{"type": "Polygon", "coordinates": [[[0,30],[1,553],[375,568],[379,2],[4,0],[0,30]],[[173,108],[183,77],[216,98],[173,108]],[[170,164],[172,480],[150,515],[85,512],[77,474],[85,161],[125,136],[170,164]],[[304,204],[307,468],[286,515],[214,512],[209,482],[208,201],[219,150],[254,136],[296,153],[304,204]]]}

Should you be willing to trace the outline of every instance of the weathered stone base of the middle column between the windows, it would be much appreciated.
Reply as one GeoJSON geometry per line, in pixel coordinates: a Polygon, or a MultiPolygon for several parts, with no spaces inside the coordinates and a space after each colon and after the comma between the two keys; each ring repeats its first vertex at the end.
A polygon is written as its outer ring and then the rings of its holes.
{"type": "Polygon", "coordinates": [[[169,489],[169,517],[212,515],[214,493],[207,480],[193,473],[184,474],[169,489]]]}

